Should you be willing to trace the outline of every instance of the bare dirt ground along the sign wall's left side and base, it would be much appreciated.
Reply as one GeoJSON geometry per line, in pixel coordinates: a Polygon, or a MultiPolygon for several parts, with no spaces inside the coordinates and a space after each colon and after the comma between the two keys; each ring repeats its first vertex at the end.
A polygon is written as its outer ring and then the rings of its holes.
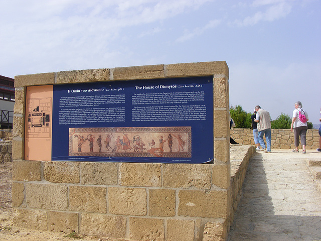
{"type": "Polygon", "coordinates": [[[34,229],[20,228],[13,225],[13,208],[12,208],[12,163],[0,163],[0,240],[14,241],[129,241],[129,239],[115,239],[105,237],[91,237],[78,235],[76,233],[63,233],[40,231],[34,229]]]}

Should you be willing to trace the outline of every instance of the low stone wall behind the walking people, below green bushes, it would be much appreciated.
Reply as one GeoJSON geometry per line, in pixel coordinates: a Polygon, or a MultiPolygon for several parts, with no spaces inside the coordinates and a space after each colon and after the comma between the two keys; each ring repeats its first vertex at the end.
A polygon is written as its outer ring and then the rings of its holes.
{"type": "MultiPolygon", "coordinates": [[[[231,137],[241,145],[254,145],[253,130],[232,128],[231,137]]],[[[265,137],[264,137],[265,141],[265,137]]],[[[300,146],[299,146],[300,147],[300,146]]],[[[309,129],[306,132],[306,149],[319,147],[318,130],[309,129]]],[[[271,129],[271,148],[294,149],[294,134],[289,129],[271,129]]]]}

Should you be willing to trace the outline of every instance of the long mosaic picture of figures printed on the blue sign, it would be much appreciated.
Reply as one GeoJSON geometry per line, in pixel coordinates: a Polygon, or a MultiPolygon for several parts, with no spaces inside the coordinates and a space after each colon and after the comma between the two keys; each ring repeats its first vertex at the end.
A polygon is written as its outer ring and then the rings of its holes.
{"type": "Polygon", "coordinates": [[[70,128],[69,156],[192,157],[191,129],[70,128]]]}

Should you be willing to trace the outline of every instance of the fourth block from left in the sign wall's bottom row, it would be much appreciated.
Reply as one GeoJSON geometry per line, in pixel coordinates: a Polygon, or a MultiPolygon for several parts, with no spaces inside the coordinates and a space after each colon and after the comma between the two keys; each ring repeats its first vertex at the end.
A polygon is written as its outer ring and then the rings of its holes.
{"type": "Polygon", "coordinates": [[[164,220],[129,217],[131,239],[164,241],[164,220]]]}

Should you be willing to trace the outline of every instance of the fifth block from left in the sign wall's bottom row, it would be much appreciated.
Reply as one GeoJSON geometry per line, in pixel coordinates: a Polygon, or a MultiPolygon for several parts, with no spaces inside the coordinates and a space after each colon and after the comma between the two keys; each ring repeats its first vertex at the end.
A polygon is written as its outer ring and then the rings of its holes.
{"type": "Polygon", "coordinates": [[[167,240],[194,241],[195,222],[194,220],[167,220],[167,240]]]}

